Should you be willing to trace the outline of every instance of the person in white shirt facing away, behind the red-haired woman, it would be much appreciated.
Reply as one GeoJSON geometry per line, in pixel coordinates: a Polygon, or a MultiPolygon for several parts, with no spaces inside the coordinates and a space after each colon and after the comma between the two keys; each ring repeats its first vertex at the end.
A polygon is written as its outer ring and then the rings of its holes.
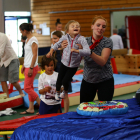
{"type": "Polygon", "coordinates": [[[122,38],[120,35],[118,35],[117,29],[113,29],[113,35],[110,37],[110,39],[113,41],[113,50],[124,48],[122,38]]]}

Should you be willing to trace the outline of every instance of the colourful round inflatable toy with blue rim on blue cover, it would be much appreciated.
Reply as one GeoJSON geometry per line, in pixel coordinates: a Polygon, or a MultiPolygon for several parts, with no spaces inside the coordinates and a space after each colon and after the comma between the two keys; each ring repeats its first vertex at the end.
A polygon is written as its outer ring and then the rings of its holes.
{"type": "Polygon", "coordinates": [[[118,101],[83,102],[76,111],[84,116],[120,115],[128,111],[128,105],[118,101]]]}

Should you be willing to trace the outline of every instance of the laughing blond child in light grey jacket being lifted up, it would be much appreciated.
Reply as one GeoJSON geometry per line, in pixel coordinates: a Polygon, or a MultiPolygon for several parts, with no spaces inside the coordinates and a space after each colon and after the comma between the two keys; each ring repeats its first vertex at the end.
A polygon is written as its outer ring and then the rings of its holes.
{"type": "MultiPolygon", "coordinates": [[[[58,101],[60,100],[60,98],[68,96],[69,82],[72,80],[72,77],[76,73],[80,65],[82,56],[89,56],[91,54],[85,37],[79,34],[80,24],[77,21],[69,21],[65,26],[65,32],[67,34],[63,35],[47,54],[47,57],[52,56],[53,52],[61,47],[62,41],[68,41],[68,46],[63,49],[60,71],[56,83],[57,92],[55,94],[55,99],[58,101]],[[77,44],[81,44],[83,46],[83,49],[80,49],[77,44]],[[62,85],[64,86],[64,91],[60,94],[60,88],[62,85]]],[[[67,109],[65,110],[65,112],[68,112],[69,103],[66,104],[67,109]]]]}

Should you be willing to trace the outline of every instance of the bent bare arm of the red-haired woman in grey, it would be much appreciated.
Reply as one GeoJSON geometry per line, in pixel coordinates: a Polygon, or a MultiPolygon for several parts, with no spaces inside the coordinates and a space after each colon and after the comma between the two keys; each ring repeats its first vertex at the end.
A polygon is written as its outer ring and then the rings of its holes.
{"type": "Polygon", "coordinates": [[[92,52],[92,54],[90,55],[90,57],[100,66],[104,66],[110,56],[111,53],[111,49],[110,48],[104,48],[102,50],[101,56],[95,54],[94,52],[92,52]]]}

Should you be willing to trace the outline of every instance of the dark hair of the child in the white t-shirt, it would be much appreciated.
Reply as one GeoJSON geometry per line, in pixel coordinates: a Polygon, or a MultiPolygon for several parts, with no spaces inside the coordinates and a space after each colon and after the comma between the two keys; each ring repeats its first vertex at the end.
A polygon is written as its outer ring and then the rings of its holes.
{"type": "Polygon", "coordinates": [[[45,70],[45,65],[48,66],[48,65],[50,64],[51,61],[54,62],[54,68],[55,68],[55,66],[56,66],[56,60],[55,60],[55,58],[54,58],[53,56],[51,56],[50,58],[48,58],[48,57],[46,57],[46,55],[44,55],[44,56],[42,57],[42,60],[41,60],[41,63],[40,63],[41,69],[42,69],[42,70],[45,70]]]}

